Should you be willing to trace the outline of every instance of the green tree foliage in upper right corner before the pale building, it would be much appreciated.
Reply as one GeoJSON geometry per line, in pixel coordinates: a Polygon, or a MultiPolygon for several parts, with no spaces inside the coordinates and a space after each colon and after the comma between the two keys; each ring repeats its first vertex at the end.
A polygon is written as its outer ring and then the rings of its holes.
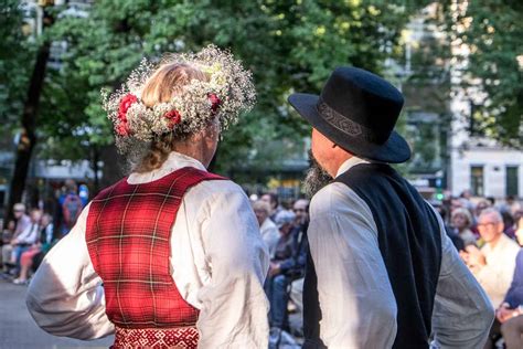
{"type": "Polygon", "coordinates": [[[516,0],[457,1],[446,30],[455,44],[470,49],[463,86],[483,93],[472,109],[474,131],[523,147],[523,3],[516,0]],[[460,9],[462,11],[460,11],[460,9]],[[479,101],[478,101],[479,99],[479,101]]]}

